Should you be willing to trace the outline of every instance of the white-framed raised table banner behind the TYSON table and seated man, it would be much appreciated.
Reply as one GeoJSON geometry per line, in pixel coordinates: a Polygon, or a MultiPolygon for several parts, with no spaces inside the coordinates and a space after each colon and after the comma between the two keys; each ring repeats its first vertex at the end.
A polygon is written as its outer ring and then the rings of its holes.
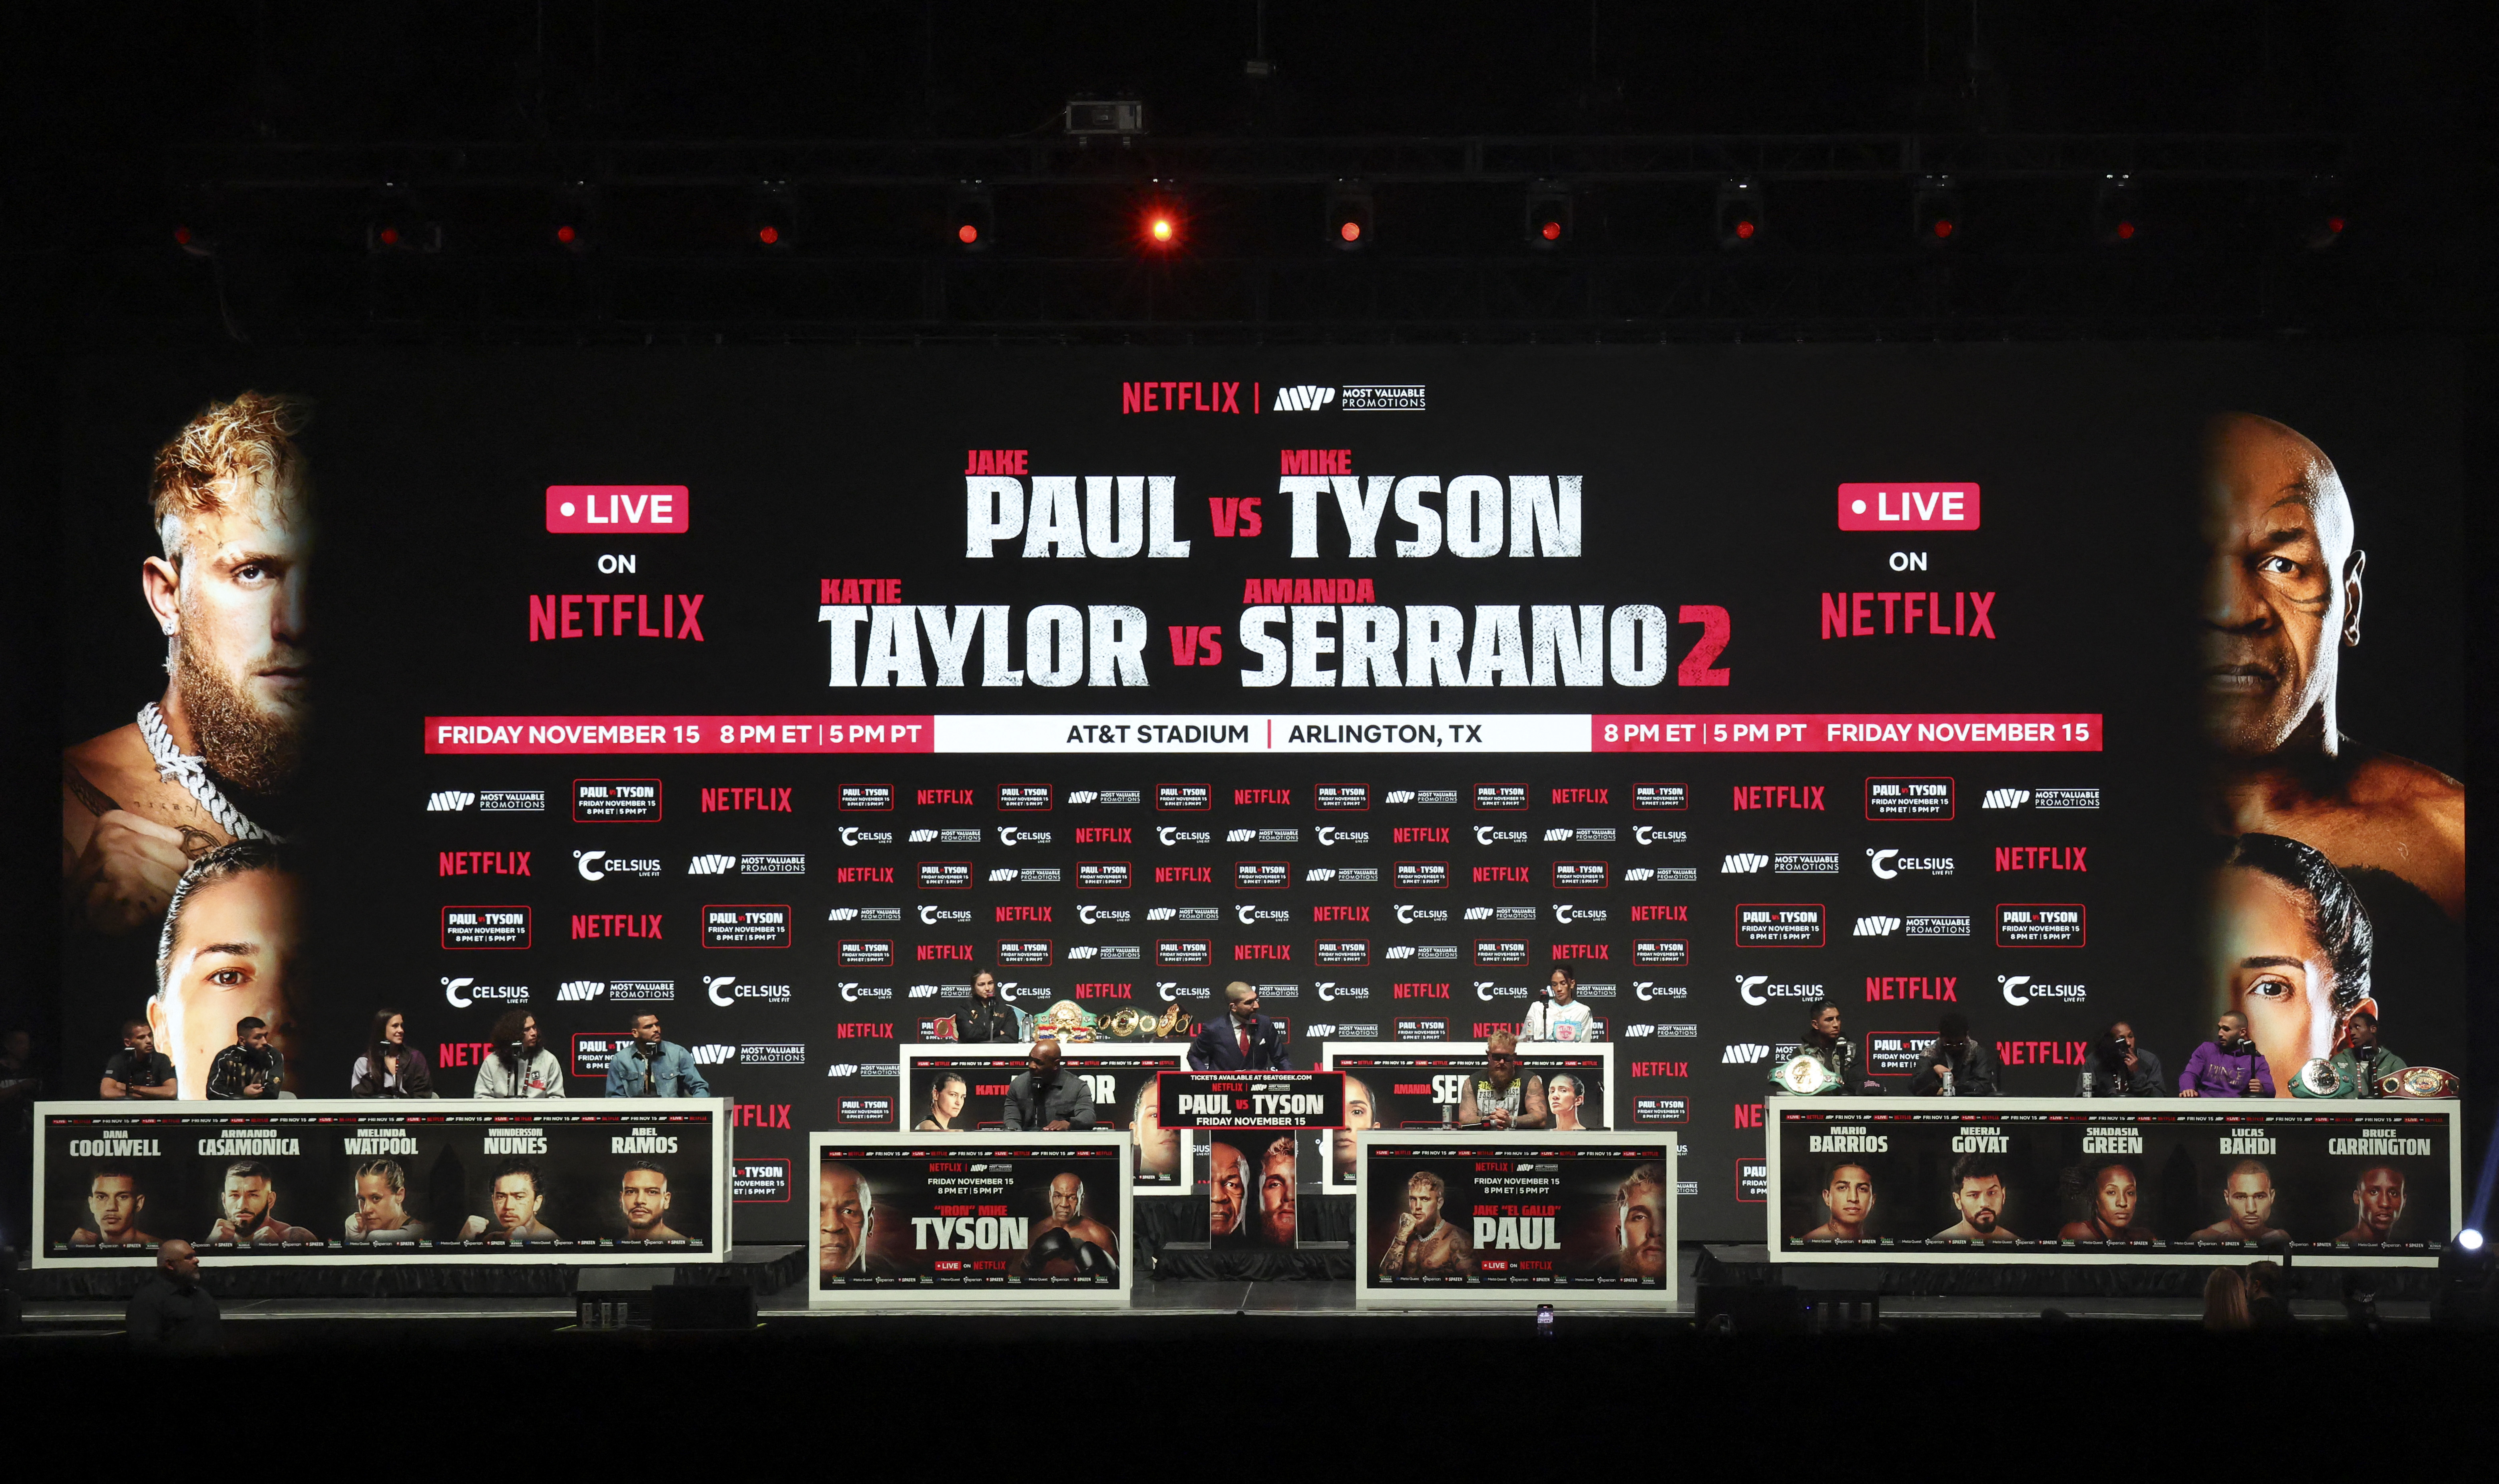
{"type": "MultiPolygon", "coordinates": [[[[912,1132],[1005,1129],[1007,1087],[1030,1067],[1030,1044],[967,1047],[960,1042],[900,1049],[902,1127],[912,1132]]],[[[1177,1042],[1107,1047],[1060,1042],[1060,1074],[1080,1077],[1092,1092],[1095,1132],[1125,1132],[1132,1149],[1130,1184],[1140,1197],[1187,1194],[1180,1134],[1155,1107],[1155,1074],[1177,1072],[1187,1047],[1177,1042]]]]}

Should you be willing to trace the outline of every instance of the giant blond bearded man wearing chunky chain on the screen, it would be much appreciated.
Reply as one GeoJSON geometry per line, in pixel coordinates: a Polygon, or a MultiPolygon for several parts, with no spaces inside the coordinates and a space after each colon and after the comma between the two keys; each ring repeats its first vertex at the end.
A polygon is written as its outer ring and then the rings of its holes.
{"type": "Polygon", "coordinates": [[[165,692],[70,747],[60,772],[60,864],[70,919],[155,927],[185,864],[237,839],[275,839],[295,779],[310,685],[305,407],[242,392],[192,417],[147,480],[162,555],[140,562],[165,635],[165,692]]]}

